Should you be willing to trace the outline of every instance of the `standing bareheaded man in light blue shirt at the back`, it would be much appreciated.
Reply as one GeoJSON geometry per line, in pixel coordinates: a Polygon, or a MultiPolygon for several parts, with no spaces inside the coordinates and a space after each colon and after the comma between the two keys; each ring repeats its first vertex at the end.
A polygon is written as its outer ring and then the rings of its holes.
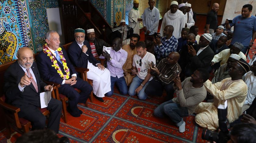
{"type": "Polygon", "coordinates": [[[160,19],[159,10],[154,6],[155,0],[148,0],[149,7],[144,10],[142,15],[143,30],[145,37],[153,35],[158,30],[158,24],[160,19]]]}

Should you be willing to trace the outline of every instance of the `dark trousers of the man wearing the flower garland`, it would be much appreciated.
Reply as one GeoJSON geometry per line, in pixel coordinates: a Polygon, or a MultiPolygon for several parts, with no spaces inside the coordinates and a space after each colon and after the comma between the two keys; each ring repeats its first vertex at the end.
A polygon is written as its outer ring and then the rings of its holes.
{"type": "Polygon", "coordinates": [[[80,77],[77,77],[76,80],[76,84],[73,86],[62,84],[59,87],[59,93],[69,98],[69,108],[74,114],[78,114],[79,112],[77,104],[86,103],[92,91],[92,87],[88,82],[82,80],[80,77]],[[78,93],[74,88],[81,90],[81,92],[78,93]]]}

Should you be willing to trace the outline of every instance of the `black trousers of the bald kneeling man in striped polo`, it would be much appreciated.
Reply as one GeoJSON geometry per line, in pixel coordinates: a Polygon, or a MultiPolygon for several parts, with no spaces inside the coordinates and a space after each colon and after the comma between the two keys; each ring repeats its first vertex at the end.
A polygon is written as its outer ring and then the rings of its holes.
{"type": "Polygon", "coordinates": [[[148,95],[157,95],[157,96],[162,96],[163,90],[165,89],[167,93],[167,98],[173,98],[174,94],[174,89],[173,89],[173,82],[163,85],[161,81],[159,81],[157,78],[154,78],[153,80],[150,81],[148,86],[145,89],[145,93],[148,95]]]}

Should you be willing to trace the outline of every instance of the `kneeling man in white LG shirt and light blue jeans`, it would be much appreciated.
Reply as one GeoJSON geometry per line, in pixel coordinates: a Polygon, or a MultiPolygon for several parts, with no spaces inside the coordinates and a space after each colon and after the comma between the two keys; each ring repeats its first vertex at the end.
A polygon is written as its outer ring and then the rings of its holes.
{"type": "Polygon", "coordinates": [[[133,68],[131,73],[132,75],[136,75],[136,77],[133,78],[128,93],[130,96],[138,94],[140,100],[145,100],[148,95],[144,90],[149,81],[153,79],[150,74],[149,65],[151,62],[155,64],[155,56],[147,52],[146,44],[143,41],[137,42],[136,51],[137,54],[133,56],[133,68]]]}

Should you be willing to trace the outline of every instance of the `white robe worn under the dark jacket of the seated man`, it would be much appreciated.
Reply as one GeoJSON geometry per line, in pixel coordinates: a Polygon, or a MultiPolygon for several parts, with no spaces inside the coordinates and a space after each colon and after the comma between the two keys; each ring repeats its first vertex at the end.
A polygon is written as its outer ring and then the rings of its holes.
{"type": "MultiPolygon", "coordinates": [[[[80,48],[84,45],[80,45],[80,48]]],[[[111,81],[110,81],[110,72],[108,69],[101,70],[98,66],[94,66],[88,61],[87,69],[87,78],[92,80],[93,93],[97,97],[105,97],[105,94],[111,91],[111,81]]]]}

